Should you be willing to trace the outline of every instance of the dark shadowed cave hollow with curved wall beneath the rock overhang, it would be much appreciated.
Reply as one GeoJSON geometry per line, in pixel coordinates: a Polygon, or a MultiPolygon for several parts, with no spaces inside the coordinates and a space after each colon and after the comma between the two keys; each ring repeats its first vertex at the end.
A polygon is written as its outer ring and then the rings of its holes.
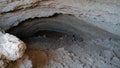
{"type": "Polygon", "coordinates": [[[72,44],[72,42],[84,42],[84,40],[99,37],[115,37],[111,33],[91,26],[74,16],[59,14],[52,17],[25,20],[18,26],[7,30],[7,32],[17,36],[27,44],[28,48],[33,49],[39,48],[39,46],[33,47],[31,45],[32,47],[30,47],[31,42],[41,42],[40,45],[46,45],[47,43],[55,49],[56,43],[58,44],[56,48],[59,48],[62,47],[61,45],[72,44]],[[54,44],[55,46],[53,46],[54,44]]]}

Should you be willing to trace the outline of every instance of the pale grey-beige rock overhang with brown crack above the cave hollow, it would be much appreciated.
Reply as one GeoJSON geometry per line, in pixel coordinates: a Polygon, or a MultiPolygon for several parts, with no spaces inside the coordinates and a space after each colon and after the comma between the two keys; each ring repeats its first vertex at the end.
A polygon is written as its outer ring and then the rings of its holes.
{"type": "Polygon", "coordinates": [[[30,18],[62,13],[120,36],[119,8],[120,0],[2,0],[0,26],[9,29],[30,18]]]}

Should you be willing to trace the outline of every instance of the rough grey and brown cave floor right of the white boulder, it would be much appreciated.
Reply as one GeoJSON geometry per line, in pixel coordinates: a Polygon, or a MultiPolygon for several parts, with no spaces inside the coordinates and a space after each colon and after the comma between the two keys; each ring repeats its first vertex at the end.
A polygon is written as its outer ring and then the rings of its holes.
{"type": "Polygon", "coordinates": [[[26,42],[34,68],[120,68],[119,39],[84,40],[53,34],[26,42]]]}

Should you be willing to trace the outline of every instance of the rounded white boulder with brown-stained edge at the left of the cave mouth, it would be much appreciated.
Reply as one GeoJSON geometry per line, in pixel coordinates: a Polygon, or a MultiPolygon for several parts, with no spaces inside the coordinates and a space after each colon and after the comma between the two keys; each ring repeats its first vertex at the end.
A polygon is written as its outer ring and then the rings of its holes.
{"type": "Polygon", "coordinates": [[[0,31],[0,67],[5,67],[9,61],[22,57],[26,49],[25,43],[17,37],[0,31]]]}

